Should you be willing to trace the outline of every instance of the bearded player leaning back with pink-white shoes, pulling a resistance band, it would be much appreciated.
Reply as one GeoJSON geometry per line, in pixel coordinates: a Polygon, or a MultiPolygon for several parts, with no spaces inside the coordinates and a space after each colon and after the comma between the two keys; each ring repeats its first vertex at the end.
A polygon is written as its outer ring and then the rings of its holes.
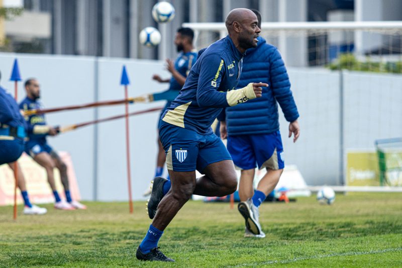
{"type": "MultiPolygon", "coordinates": [[[[41,103],[38,101],[40,98],[38,80],[34,78],[28,79],[25,82],[25,90],[27,97],[20,103],[20,109],[24,111],[41,109],[41,103]]],[[[61,210],[86,209],[84,205],[71,199],[67,166],[61,160],[57,152],[47,144],[46,137],[56,136],[58,134],[58,128],[47,125],[45,115],[43,114],[26,116],[25,121],[27,122],[28,132],[28,142],[25,145],[25,152],[46,169],[47,180],[56,201],[54,207],[61,210]],[[56,190],[53,174],[54,167],[57,167],[60,171],[60,179],[64,187],[67,202],[60,199],[56,190]]]]}

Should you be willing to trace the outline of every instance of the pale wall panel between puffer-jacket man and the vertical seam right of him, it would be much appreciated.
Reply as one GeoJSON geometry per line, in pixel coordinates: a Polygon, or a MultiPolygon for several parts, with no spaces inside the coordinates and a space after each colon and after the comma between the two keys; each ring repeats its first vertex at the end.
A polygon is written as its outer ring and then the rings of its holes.
{"type": "Polygon", "coordinates": [[[291,90],[300,118],[300,138],[288,138],[279,108],[285,164],[296,164],[309,185],[338,184],[339,75],[328,70],[289,68],[291,90]]]}

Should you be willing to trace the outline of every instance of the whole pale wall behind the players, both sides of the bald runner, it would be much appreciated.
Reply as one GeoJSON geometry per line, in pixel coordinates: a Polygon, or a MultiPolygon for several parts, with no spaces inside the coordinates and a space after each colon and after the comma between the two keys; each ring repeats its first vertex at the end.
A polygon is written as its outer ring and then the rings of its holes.
{"type": "MultiPolygon", "coordinates": [[[[24,79],[38,78],[46,108],[84,104],[96,99],[123,99],[124,88],[120,85],[123,64],[127,66],[131,82],[129,96],[132,97],[167,88],[167,84],[151,80],[153,73],[169,76],[162,61],[0,53],[1,85],[13,94],[14,84],[8,79],[15,57],[19,59],[24,79]]],[[[289,68],[288,72],[302,131],[300,139],[293,144],[287,138],[288,123],[280,112],[285,163],[296,164],[309,185],[341,182],[342,151],[373,148],[375,139],[402,135],[402,75],[344,72],[344,115],[341,119],[342,87],[338,71],[289,68]],[[341,145],[342,126],[344,146],[341,145]]],[[[19,83],[19,96],[20,100],[25,96],[22,82],[19,83]]],[[[134,104],[130,105],[130,112],[160,106],[164,106],[164,102],[134,104]]],[[[124,106],[51,113],[47,120],[52,125],[65,126],[94,120],[95,111],[98,118],[105,118],[123,114],[124,106]]],[[[130,118],[135,200],[142,199],[142,193],[154,175],[158,117],[159,113],[154,112],[130,118]]],[[[57,150],[71,154],[84,200],[93,199],[95,179],[98,200],[128,199],[124,119],[49,138],[49,143],[57,150]],[[94,141],[95,134],[97,142],[94,141]]]]}

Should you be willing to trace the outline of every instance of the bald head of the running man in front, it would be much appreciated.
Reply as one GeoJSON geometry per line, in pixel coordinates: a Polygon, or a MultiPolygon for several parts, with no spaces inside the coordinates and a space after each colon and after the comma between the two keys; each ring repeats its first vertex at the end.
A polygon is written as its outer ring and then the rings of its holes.
{"type": "Polygon", "coordinates": [[[225,25],[240,52],[244,53],[246,49],[257,46],[257,37],[261,30],[258,27],[258,18],[251,10],[232,10],[226,17],[225,25]]]}

